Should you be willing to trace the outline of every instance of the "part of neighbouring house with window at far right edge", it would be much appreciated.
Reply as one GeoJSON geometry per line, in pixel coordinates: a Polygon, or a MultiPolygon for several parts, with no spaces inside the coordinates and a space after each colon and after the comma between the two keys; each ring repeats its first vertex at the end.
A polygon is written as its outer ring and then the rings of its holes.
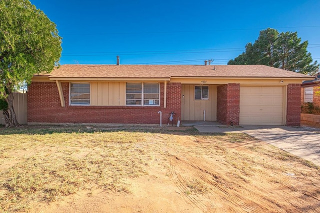
{"type": "Polygon", "coordinates": [[[316,95],[316,92],[320,92],[320,72],[318,72],[314,79],[305,80],[301,84],[301,104],[305,102],[313,102],[320,106],[320,95],[316,95]]]}

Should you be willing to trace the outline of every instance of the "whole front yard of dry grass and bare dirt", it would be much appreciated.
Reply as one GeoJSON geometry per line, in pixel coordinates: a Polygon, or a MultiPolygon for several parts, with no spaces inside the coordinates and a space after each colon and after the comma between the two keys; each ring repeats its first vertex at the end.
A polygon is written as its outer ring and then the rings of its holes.
{"type": "Polygon", "coordinates": [[[320,168],[244,133],[0,128],[7,212],[320,212],[320,168]]]}

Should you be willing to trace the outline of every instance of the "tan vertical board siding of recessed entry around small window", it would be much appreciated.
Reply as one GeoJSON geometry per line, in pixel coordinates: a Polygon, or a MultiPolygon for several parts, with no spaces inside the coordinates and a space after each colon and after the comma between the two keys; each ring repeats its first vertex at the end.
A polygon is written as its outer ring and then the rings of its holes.
{"type": "Polygon", "coordinates": [[[207,100],[194,99],[194,86],[197,84],[182,84],[181,90],[181,120],[216,120],[216,85],[209,85],[209,98],[207,100]]]}

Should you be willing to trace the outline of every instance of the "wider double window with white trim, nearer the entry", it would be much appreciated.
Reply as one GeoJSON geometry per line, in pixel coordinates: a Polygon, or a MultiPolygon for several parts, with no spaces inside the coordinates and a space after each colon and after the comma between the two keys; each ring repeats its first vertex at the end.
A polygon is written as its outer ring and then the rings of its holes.
{"type": "Polygon", "coordinates": [[[126,83],[126,105],[160,105],[159,83],[126,83]]]}

